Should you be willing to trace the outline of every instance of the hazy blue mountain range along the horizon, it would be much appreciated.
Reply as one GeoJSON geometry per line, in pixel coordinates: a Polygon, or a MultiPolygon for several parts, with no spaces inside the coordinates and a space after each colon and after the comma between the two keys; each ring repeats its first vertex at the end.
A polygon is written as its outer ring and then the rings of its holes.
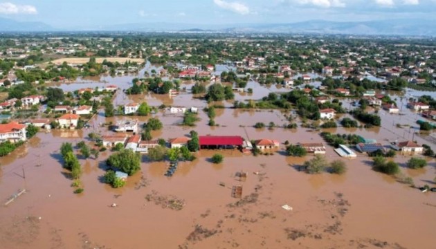
{"type": "Polygon", "coordinates": [[[19,22],[0,18],[0,32],[44,31],[137,31],[137,32],[225,32],[225,33],[311,33],[344,35],[436,36],[434,20],[395,19],[381,21],[312,20],[291,24],[171,24],[135,23],[105,26],[53,27],[42,22],[19,22]]]}

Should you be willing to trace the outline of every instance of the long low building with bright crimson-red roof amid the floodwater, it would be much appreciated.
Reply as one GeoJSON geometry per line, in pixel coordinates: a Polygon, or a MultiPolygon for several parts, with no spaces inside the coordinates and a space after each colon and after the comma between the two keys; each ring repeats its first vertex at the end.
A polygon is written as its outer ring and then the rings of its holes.
{"type": "Polygon", "coordinates": [[[235,149],[243,144],[241,136],[199,136],[200,149],[235,149]]]}

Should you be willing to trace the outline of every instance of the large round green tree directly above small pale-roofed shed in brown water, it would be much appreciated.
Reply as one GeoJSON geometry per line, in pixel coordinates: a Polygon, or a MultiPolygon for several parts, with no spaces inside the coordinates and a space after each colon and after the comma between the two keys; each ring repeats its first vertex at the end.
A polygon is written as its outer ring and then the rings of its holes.
{"type": "Polygon", "coordinates": [[[109,167],[120,169],[131,176],[140,169],[140,155],[131,149],[122,149],[109,156],[106,163],[109,167]]]}

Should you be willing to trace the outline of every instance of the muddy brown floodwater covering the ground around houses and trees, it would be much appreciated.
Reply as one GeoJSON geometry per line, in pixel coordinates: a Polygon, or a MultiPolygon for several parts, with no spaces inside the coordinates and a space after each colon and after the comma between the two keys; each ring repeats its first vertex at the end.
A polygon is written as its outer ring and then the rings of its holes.
{"type": "MultiPolygon", "coordinates": [[[[127,77],[108,79],[128,87],[127,77]],[[120,79],[118,79],[120,78],[120,79]]],[[[81,84],[80,88],[87,87],[81,84]]],[[[267,95],[269,89],[259,86],[267,95]]],[[[257,94],[256,90],[255,93],[257,94]]],[[[256,95],[257,96],[257,95],[256,95]]],[[[263,97],[263,95],[262,95],[263,97]]],[[[239,97],[238,97],[239,98],[239,97]]],[[[117,93],[114,103],[139,102],[206,107],[206,103],[181,93],[126,96],[117,93]]],[[[401,101],[399,98],[397,101],[401,101]]],[[[406,101],[403,99],[402,101],[406,101]]],[[[226,107],[231,102],[223,103],[226,107]]],[[[347,107],[347,104],[345,104],[347,107]]],[[[403,116],[380,110],[382,127],[374,129],[325,129],[337,133],[357,133],[386,140],[412,138],[414,129],[396,124],[415,124],[416,113],[404,108],[403,116]],[[409,132],[410,131],[410,132],[409,132]]],[[[319,131],[298,129],[255,129],[255,122],[287,123],[282,111],[243,111],[216,109],[218,127],[208,127],[206,113],[199,110],[196,127],[182,127],[181,115],[158,111],[162,131],[154,138],[175,138],[194,129],[200,135],[240,135],[256,140],[270,138],[284,142],[322,142],[319,131]]],[[[92,123],[115,122],[123,117],[105,118],[99,113],[92,123]]],[[[147,122],[150,117],[138,118],[147,122]]],[[[416,124],[415,124],[416,125],[416,124]]],[[[272,155],[252,156],[235,150],[199,151],[193,162],[182,162],[174,176],[163,176],[167,163],[150,163],[143,156],[141,171],[129,177],[122,189],[102,183],[105,151],[98,159],[80,158],[84,192],[73,194],[71,179],[60,159],[62,142],[86,140],[91,131],[111,133],[94,127],[83,131],[40,132],[26,145],[1,158],[0,200],[5,201],[19,189],[27,192],[7,206],[0,207],[2,248],[434,248],[436,194],[421,193],[371,169],[371,160],[362,154],[347,163],[347,172],[309,175],[298,172],[298,165],[311,158],[284,155],[284,145],[272,155]],[[223,154],[224,162],[209,158],[223,154]],[[236,172],[248,172],[239,181],[236,172]],[[257,174],[253,174],[256,172],[257,174]],[[244,201],[231,196],[232,187],[242,185],[244,201]],[[162,203],[147,201],[154,194],[161,199],[182,199],[182,210],[163,208],[162,203]],[[112,203],[118,207],[110,208],[112,203]],[[233,204],[233,205],[232,205],[233,204]],[[288,204],[293,210],[282,209],[288,204]]],[[[426,142],[415,136],[418,143],[426,142]]],[[[327,160],[338,159],[327,147],[327,160]]],[[[408,157],[394,160],[404,166],[408,157]]],[[[425,169],[401,172],[415,185],[434,185],[434,160],[425,169]]]]}

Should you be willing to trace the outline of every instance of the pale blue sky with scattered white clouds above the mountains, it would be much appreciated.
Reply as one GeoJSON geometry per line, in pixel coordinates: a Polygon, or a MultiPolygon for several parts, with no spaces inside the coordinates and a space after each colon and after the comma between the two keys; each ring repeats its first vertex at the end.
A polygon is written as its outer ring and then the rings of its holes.
{"type": "Polygon", "coordinates": [[[436,0],[0,0],[0,17],[43,21],[56,28],[436,19],[436,0]]]}

